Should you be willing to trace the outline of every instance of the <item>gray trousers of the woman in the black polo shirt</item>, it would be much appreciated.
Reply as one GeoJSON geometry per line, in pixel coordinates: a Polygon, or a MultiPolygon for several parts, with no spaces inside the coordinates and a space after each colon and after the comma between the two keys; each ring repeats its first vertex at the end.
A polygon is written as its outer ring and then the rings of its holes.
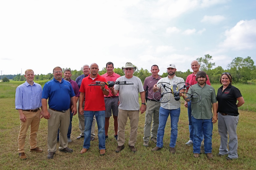
{"type": "Polygon", "coordinates": [[[228,154],[229,158],[237,159],[237,133],[236,128],[238,124],[239,116],[231,116],[225,115],[223,116],[221,113],[218,113],[218,131],[221,136],[221,144],[219,148],[219,154],[226,155],[228,154]],[[228,137],[229,135],[229,142],[228,137]],[[227,149],[227,144],[229,151],[227,149]]]}

